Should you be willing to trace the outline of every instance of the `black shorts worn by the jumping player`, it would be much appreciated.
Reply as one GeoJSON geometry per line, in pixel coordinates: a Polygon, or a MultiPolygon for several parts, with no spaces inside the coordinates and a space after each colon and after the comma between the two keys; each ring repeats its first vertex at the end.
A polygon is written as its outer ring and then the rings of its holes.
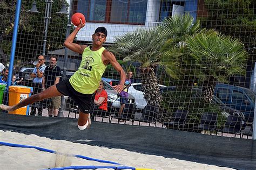
{"type": "Polygon", "coordinates": [[[93,94],[83,94],[76,91],[69,82],[69,79],[65,79],[62,82],[56,84],[56,88],[59,93],[71,97],[78,108],[84,114],[89,114],[91,108],[92,96],[93,94]]]}

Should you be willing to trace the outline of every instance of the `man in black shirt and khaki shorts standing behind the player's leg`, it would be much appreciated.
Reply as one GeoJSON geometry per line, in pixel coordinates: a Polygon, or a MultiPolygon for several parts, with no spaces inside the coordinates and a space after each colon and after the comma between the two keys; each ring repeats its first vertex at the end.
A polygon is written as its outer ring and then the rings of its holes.
{"type": "MultiPolygon", "coordinates": [[[[54,84],[59,83],[59,79],[62,76],[60,67],[57,66],[58,58],[56,55],[50,56],[50,66],[46,67],[44,70],[42,91],[51,87],[54,84]]],[[[48,116],[54,117],[58,116],[58,111],[60,108],[61,96],[53,97],[48,100],[48,116]]]]}

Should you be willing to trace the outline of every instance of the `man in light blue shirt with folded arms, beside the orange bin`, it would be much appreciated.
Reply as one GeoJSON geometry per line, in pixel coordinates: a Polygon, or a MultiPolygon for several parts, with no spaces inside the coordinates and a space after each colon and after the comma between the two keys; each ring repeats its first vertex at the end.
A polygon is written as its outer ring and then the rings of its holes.
{"type": "MultiPolygon", "coordinates": [[[[33,95],[41,93],[42,91],[42,82],[43,82],[43,74],[46,66],[44,65],[44,56],[38,56],[38,63],[34,68],[31,77],[33,78],[33,95]]],[[[37,108],[37,116],[42,116],[43,112],[43,105],[40,105],[41,102],[35,102],[35,104],[31,105],[31,112],[30,115],[36,116],[36,106],[37,108]],[[35,106],[36,105],[36,106],[35,106]]]]}

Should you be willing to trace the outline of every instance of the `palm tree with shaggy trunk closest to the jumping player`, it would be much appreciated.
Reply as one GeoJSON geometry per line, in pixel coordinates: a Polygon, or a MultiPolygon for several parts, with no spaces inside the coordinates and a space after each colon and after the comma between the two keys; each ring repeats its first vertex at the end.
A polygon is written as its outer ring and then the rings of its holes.
{"type": "Polygon", "coordinates": [[[171,32],[168,30],[159,31],[156,27],[153,29],[138,29],[134,32],[124,34],[114,40],[111,51],[123,55],[124,62],[136,61],[140,63],[140,77],[142,78],[142,90],[147,104],[159,107],[161,95],[155,69],[164,68],[166,73],[177,79],[173,70],[178,65],[169,58],[178,58],[179,53],[175,50],[169,53],[169,56],[162,55],[160,48],[163,47],[171,32]]]}

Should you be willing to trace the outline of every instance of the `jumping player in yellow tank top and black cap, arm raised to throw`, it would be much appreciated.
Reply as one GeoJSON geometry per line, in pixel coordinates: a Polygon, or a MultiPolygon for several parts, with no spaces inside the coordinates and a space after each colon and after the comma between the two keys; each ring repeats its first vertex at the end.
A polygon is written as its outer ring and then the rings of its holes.
{"type": "Polygon", "coordinates": [[[91,108],[92,96],[99,87],[99,82],[107,65],[111,63],[121,76],[119,84],[113,86],[113,89],[116,90],[117,93],[121,93],[124,89],[126,76],[115,56],[103,47],[103,43],[106,41],[107,37],[107,30],[105,27],[98,27],[95,30],[95,33],[92,34],[91,46],[78,45],[73,42],[76,34],[82,27],[84,27],[84,25],[85,24],[83,24],[80,19],[80,24],[64,42],[65,47],[71,49],[73,52],[82,54],[82,61],[76,73],[73,74],[70,79],[65,79],[64,81],[45,89],[42,93],[32,95],[14,106],[10,107],[1,104],[0,109],[13,111],[35,101],[44,100],[45,98],[60,95],[70,96],[79,108],[78,128],[80,130],[89,128],[91,124],[89,110],[91,108]]]}

